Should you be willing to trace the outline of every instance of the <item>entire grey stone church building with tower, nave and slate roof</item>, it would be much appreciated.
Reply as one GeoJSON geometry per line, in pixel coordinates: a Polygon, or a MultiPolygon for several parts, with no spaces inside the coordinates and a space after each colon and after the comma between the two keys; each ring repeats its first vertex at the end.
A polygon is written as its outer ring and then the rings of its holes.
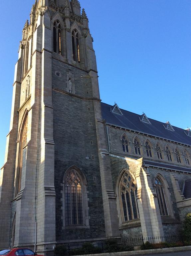
{"type": "Polygon", "coordinates": [[[181,234],[191,130],[101,102],[78,0],[39,0],[22,31],[0,177],[0,248],[181,234]]]}

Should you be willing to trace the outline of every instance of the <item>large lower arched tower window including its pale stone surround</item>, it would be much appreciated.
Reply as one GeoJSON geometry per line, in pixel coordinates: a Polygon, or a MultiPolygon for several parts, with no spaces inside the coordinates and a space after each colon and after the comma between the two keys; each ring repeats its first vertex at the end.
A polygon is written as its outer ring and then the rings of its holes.
{"type": "Polygon", "coordinates": [[[67,169],[63,177],[63,227],[89,228],[87,181],[77,166],[67,169]]]}

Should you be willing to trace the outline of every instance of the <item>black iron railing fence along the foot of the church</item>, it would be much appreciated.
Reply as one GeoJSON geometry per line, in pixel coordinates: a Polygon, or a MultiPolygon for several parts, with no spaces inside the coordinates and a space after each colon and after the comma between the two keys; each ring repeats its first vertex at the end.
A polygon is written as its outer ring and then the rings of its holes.
{"type": "Polygon", "coordinates": [[[158,249],[191,245],[182,236],[162,236],[133,239],[108,239],[88,242],[75,242],[48,247],[46,256],[100,254],[134,250],[158,249]]]}

